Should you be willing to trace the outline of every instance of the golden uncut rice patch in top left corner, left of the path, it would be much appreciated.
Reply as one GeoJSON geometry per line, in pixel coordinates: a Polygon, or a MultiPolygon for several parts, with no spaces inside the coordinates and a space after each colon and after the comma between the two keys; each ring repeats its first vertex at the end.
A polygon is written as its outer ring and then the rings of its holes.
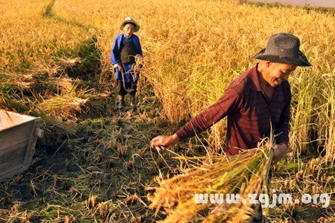
{"type": "Polygon", "coordinates": [[[50,1],[1,1],[0,70],[15,72],[72,54],[88,38],[79,27],[44,16],[50,1]]]}

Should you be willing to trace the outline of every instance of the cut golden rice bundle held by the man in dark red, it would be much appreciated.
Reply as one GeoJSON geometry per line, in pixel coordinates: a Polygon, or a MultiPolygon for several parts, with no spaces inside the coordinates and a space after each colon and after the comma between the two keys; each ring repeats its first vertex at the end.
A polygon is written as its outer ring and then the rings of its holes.
{"type": "MultiPolygon", "coordinates": [[[[212,164],[188,169],[185,174],[161,180],[152,197],[150,208],[161,208],[168,215],[159,222],[248,222],[258,204],[249,203],[248,194],[268,194],[269,168],[273,149],[253,148],[232,157],[176,157],[180,160],[213,160],[212,164]],[[195,194],[239,194],[239,202],[227,200],[196,203],[195,194]],[[246,202],[242,202],[245,199],[246,202]]],[[[268,208],[262,210],[266,219],[268,208]]]]}

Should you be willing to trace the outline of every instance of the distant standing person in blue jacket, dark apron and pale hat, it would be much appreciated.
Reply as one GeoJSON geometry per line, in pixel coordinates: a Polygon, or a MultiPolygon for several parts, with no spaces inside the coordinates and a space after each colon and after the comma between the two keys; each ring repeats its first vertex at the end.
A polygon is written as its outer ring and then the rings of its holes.
{"type": "Polygon", "coordinates": [[[140,29],[140,25],[131,17],[126,17],[120,29],[124,33],[119,34],[114,39],[110,54],[110,59],[115,69],[115,77],[117,78],[118,108],[122,109],[124,107],[124,96],[129,93],[131,107],[136,109],[135,94],[139,73],[138,71],[134,71],[133,68],[136,64],[135,56],[142,56],[143,53],[140,38],[134,33],[140,29]]]}

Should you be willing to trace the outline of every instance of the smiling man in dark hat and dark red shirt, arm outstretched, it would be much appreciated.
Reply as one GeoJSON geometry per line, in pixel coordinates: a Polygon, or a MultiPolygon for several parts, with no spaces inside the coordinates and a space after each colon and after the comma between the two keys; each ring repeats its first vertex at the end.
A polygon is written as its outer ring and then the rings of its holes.
{"type": "Polygon", "coordinates": [[[151,148],[163,150],[193,137],[228,116],[227,155],[256,148],[260,139],[276,134],[274,158],[288,151],[291,91],[287,79],[297,66],[311,66],[299,50],[300,40],[290,33],[277,33],[267,47],[253,56],[260,59],[251,70],[237,77],[221,98],[170,136],[151,140],[151,148]]]}

